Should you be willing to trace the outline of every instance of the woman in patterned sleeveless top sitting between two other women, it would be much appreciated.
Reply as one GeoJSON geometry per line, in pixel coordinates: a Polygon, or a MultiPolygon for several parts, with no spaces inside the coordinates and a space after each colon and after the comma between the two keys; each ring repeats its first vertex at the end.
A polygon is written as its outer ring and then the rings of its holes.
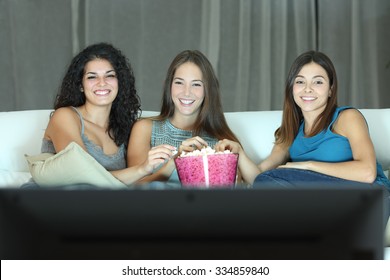
{"type": "MultiPolygon", "coordinates": [[[[238,141],[225,120],[218,79],[204,54],[197,50],[179,53],[168,68],[160,115],[137,121],[128,145],[128,166],[145,161],[152,147],[168,144],[192,152],[214,147],[222,139],[238,141]]],[[[152,175],[138,181],[179,182],[173,159],[152,175]]]]}

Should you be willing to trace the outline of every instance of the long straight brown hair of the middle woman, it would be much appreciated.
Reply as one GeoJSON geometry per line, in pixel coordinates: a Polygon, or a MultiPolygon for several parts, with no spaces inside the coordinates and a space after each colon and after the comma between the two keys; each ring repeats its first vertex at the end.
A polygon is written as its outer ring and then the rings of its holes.
{"type": "Polygon", "coordinates": [[[192,129],[192,135],[207,133],[220,140],[229,139],[238,142],[223,113],[219,82],[214,69],[206,56],[198,50],[182,51],[173,59],[164,82],[160,115],[154,119],[166,120],[173,116],[175,104],[171,94],[172,81],[177,68],[186,62],[194,63],[199,67],[204,83],[204,100],[192,129]]]}

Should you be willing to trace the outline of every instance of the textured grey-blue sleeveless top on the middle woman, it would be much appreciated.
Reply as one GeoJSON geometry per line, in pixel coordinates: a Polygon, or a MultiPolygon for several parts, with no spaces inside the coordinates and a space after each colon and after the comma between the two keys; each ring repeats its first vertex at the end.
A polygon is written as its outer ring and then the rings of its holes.
{"type": "MultiPolygon", "coordinates": [[[[214,147],[214,145],[218,142],[218,139],[206,134],[199,135],[199,136],[203,140],[205,140],[210,147],[214,147]]],[[[175,127],[169,121],[169,119],[163,121],[154,120],[152,123],[152,136],[150,139],[150,144],[151,147],[155,147],[162,144],[168,144],[179,149],[181,142],[192,137],[193,137],[192,131],[183,130],[175,127]]],[[[159,168],[161,168],[162,165],[160,165],[159,168]]],[[[156,171],[159,168],[157,168],[156,171]]],[[[168,179],[168,182],[170,183],[180,182],[176,169],[172,172],[171,176],[168,179]]]]}

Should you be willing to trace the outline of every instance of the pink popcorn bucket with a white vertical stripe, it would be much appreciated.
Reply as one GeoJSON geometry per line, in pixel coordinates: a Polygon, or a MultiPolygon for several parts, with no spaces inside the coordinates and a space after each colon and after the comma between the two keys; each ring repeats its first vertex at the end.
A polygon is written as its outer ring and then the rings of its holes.
{"type": "Polygon", "coordinates": [[[183,188],[231,188],[236,184],[238,154],[177,157],[175,165],[183,188]]]}

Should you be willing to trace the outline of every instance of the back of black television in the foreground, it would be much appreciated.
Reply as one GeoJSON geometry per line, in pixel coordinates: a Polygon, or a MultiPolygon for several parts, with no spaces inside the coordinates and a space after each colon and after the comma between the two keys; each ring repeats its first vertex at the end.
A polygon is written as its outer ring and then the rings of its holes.
{"type": "Polygon", "coordinates": [[[1,259],[383,259],[383,191],[0,189],[1,259]]]}

